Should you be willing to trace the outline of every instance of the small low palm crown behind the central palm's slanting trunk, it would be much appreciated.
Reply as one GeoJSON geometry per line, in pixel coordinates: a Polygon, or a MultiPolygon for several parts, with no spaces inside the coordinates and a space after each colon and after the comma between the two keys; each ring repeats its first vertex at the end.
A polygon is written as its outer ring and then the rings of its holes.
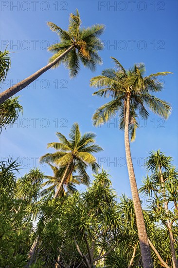
{"type": "MultiPolygon", "coordinates": [[[[52,164],[48,163],[48,165],[53,170],[53,176],[45,175],[44,179],[47,179],[46,182],[42,184],[42,187],[50,185],[48,188],[41,191],[41,196],[47,194],[48,192],[54,192],[55,188],[58,188],[61,178],[63,177],[63,174],[65,172],[65,167],[57,168],[56,166],[53,166],[52,164]]],[[[73,168],[73,172],[68,172],[66,179],[62,185],[62,189],[60,192],[61,196],[64,196],[66,194],[74,193],[76,190],[75,184],[84,184],[86,186],[89,186],[89,176],[86,173],[86,178],[84,179],[80,175],[74,175],[73,173],[76,172],[76,167],[73,168]],[[66,190],[65,190],[66,188],[66,190]]]]}

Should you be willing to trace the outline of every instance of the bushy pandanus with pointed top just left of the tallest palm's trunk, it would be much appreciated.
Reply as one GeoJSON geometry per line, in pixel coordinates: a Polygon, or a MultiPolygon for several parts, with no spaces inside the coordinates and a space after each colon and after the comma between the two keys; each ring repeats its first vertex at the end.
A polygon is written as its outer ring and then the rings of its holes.
{"type": "Polygon", "coordinates": [[[86,192],[74,197],[75,202],[67,202],[62,225],[70,249],[77,250],[80,258],[80,266],[75,267],[104,267],[105,259],[117,247],[122,229],[115,197],[109,175],[103,170],[94,175],[86,192]]]}

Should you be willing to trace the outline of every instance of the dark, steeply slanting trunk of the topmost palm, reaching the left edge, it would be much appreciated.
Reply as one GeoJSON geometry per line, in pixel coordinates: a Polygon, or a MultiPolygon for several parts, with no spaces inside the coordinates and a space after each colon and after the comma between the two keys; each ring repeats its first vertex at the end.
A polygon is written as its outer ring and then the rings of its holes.
{"type": "Polygon", "coordinates": [[[2,93],[0,93],[0,104],[3,103],[9,97],[12,97],[16,93],[18,93],[23,88],[27,87],[29,84],[31,84],[33,81],[35,81],[38,77],[40,77],[47,70],[51,69],[61,58],[66,56],[71,51],[72,48],[74,48],[74,45],[72,45],[70,48],[68,48],[64,53],[62,53],[59,57],[54,59],[52,62],[48,63],[43,68],[39,69],[33,75],[23,79],[22,81],[20,81],[16,85],[14,85],[14,86],[8,88],[7,90],[3,91],[2,93]]]}

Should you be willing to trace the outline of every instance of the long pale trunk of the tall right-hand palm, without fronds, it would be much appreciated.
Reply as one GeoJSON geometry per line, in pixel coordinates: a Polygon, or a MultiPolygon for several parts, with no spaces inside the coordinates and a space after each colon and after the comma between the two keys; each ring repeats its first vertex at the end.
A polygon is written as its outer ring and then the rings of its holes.
{"type": "Polygon", "coordinates": [[[146,228],[143,219],[142,213],[142,206],[139,198],[139,193],[137,189],[137,183],[135,179],[135,173],[131,158],[130,152],[130,141],[129,141],[129,108],[130,108],[130,95],[127,96],[126,101],[126,114],[125,114],[125,154],[126,154],[126,161],[127,161],[127,168],[128,168],[128,175],[130,180],[131,192],[133,197],[133,204],[135,209],[135,216],[136,216],[136,223],[137,229],[139,234],[139,241],[141,247],[141,254],[142,254],[142,262],[144,268],[153,268],[153,262],[151,259],[151,252],[148,243],[146,228]]]}

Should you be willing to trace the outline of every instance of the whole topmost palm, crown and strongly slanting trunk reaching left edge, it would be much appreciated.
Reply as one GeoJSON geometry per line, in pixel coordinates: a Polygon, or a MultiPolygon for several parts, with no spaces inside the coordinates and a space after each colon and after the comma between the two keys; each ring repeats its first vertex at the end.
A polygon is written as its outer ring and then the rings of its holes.
{"type": "Polygon", "coordinates": [[[70,77],[77,76],[80,61],[84,66],[94,71],[96,64],[102,63],[98,51],[103,49],[103,43],[99,36],[104,31],[104,25],[95,24],[88,28],[81,28],[81,23],[78,10],[74,14],[70,14],[68,31],[62,30],[53,22],[48,22],[50,29],[60,38],[59,43],[49,47],[49,51],[53,52],[54,55],[46,66],[2,92],[0,94],[0,104],[31,84],[47,70],[57,67],[62,62],[70,70],[70,77]]]}

